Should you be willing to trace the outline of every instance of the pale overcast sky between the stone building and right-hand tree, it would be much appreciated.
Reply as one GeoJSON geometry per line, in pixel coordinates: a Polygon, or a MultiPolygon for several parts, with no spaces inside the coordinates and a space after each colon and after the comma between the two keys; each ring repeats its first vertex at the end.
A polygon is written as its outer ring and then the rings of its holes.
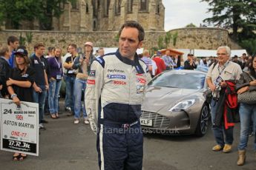
{"type": "Polygon", "coordinates": [[[165,31],[186,27],[193,23],[197,27],[203,24],[203,19],[211,17],[206,13],[208,3],[200,0],[163,0],[165,6],[165,31]]]}

